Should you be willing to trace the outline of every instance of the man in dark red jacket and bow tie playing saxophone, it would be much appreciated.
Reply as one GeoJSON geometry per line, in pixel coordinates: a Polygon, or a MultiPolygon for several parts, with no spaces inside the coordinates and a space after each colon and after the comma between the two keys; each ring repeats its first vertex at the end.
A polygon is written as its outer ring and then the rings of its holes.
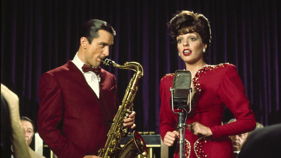
{"type": "MultiPolygon", "coordinates": [[[[87,21],[74,59],[40,78],[38,133],[60,158],[97,157],[105,145],[119,103],[115,76],[100,64],[114,36],[108,23],[87,21]]],[[[125,126],[135,128],[135,114],[124,119],[125,126]]]]}

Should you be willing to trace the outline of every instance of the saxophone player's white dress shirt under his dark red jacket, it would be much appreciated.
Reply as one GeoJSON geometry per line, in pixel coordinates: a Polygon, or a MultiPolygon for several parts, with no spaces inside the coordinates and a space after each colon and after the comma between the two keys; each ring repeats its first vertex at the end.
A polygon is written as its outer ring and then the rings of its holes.
{"type": "Polygon", "coordinates": [[[88,85],[92,88],[92,90],[96,93],[97,97],[100,97],[100,74],[97,75],[92,71],[83,72],[82,66],[84,65],[83,61],[78,58],[78,52],[74,56],[72,62],[77,66],[77,68],[83,73],[88,85]]]}

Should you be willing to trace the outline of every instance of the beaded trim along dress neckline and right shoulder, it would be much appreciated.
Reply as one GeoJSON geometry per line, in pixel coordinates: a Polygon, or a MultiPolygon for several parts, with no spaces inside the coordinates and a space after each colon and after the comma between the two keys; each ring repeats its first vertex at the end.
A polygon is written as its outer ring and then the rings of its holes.
{"type": "Polygon", "coordinates": [[[211,71],[211,70],[214,70],[214,69],[220,68],[220,67],[226,67],[227,65],[229,65],[229,63],[221,63],[218,65],[206,65],[206,66],[199,68],[196,71],[196,73],[194,74],[194,76],[192,78],[192,84],[193,84],[193,88],[194,88],[194,96],[192,98],[193,104],[195,104],[195,98],[197,98],[201,92],[201,86],[199,83],[199,78],[201,77],[201,75],[203,75],[207,71],[211,71]]]}

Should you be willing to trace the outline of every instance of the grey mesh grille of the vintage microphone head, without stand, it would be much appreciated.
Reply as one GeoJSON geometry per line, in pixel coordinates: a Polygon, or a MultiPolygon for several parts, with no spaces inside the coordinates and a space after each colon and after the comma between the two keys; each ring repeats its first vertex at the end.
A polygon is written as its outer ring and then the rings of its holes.
{"type": "Polygon", "coordinates": [[[173,95],[175,98],[187,98],[191,86],[191,73],[186,70],[177,70],[173,79],[173,95]]]}

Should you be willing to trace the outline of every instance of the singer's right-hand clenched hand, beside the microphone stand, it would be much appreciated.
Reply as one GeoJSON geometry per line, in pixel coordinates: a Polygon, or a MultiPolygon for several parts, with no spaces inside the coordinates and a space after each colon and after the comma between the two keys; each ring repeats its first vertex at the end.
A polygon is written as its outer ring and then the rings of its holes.
{"type": "Polygon", "coordinates": [[[213,133],[209,127],[206,127],[198,122],[193,122],[193,123],[189,124],[188,129],[194,135],[204,135],[206,137],[213,135],[213,133]]]}

